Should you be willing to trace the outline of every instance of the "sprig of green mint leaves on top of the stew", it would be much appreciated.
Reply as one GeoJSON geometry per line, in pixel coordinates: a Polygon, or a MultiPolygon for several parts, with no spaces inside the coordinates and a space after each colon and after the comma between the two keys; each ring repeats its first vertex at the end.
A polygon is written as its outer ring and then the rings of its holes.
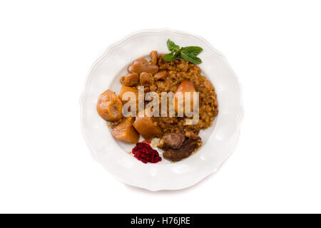
{"type": "Polygon", "coordinates": [[[203,48],[198,46],[188,46],[180,48],[180,46],[176,45],[173,41],[168,39],[167,47],[170,53],[165,54],[163,59],[165,61],[173,61],[175,58],[183,58],[185,61],[189,61],[190,63],[199,64],[202,63],[200,58],[197,57],[199,53],[203,51],[203,48]]]}

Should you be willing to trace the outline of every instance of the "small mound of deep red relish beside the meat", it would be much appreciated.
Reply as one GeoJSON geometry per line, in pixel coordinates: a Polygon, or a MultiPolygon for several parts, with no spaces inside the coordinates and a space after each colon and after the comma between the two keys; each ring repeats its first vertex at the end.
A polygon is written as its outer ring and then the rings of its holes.
{"type": "Polygon", "coordinates": [[[157,150],[154,150],[149,143],[146,142],[138,142],[136,147],[133,148],[132,151],[134,157],[138,160],[147,163],[156,163],[160,162],[162,158],[159,156],[157,150]]]}

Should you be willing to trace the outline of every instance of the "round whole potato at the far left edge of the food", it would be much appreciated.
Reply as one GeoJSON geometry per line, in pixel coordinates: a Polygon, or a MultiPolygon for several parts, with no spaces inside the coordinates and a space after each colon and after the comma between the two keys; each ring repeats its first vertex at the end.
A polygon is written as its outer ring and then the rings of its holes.
{"type": "Polygon", "coordinates": [[[99,95],[96,108],[98,114],[104,120],[115,121],[123,117],[123,103],[121,103],[121,99],[118,98],[116,93],[111,90],[106,90],[99,95]]]}

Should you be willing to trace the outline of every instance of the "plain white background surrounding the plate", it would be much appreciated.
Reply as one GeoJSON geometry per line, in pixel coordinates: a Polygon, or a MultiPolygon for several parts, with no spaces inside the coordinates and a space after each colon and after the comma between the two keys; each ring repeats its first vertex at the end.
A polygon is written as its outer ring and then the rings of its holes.
{"type": "Polygon", "coordinates": [[[1,1],[0,212],[321,212],[320,1],[1,1]],[[148,192],[90,155],[78,100],[106,47],[143,28],[203,36],[240,79],[234,154],[148,192]]]}

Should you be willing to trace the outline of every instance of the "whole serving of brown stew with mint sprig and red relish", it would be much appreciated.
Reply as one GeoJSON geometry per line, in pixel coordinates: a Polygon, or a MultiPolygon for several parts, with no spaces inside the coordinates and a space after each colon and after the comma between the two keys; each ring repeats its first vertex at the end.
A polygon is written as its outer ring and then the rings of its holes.
{"type": "Polygon", "coordinates": [[[200,130],[210,127],[218,115],[215,88],[196,66],[202,62],[197,55],[203,49],[180,48],[170,40],[167,45],[168,54],[151,51],[150,61],[133,61],[121,77],[118,95],[106,90],[97,103],[98,114],[112,123],[113,137],[136,144],[132,153],[144,163],[162,160],[151,147],[154,138],[159,138],[157,147],[165,159],[189,157],[202,145],[200,130]],[[143,142],[138,142],[140,135],[143,142]]]}

